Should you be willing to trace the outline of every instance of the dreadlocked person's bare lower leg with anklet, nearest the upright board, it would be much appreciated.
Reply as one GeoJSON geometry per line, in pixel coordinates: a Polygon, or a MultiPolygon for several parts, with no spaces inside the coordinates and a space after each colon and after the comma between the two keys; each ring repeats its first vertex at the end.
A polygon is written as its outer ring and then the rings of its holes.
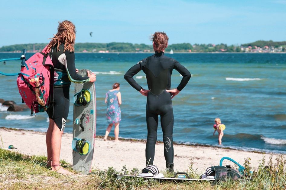
{"type": "Polygon", "coordinates": [[[63,174],[73,174],[60,166],[60,146],[62,141],[63,131],[60,131],[57,124],[54,123],[53,131],[51,135],[51,150],[52,150],[52,158],[53,165],[52,171],[56,171],[57,173],[63,174]]]}

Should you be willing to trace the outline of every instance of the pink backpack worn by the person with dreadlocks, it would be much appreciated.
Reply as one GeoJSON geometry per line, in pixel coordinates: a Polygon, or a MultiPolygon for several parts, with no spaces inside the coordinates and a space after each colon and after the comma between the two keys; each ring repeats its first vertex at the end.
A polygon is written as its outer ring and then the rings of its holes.
{"type": "MultiPolygon", "coordinates": [[[[52,52],[53,54],[53,52],[52,52]]],[[[42,52],[35,53],[22,66],[17,78],[22,102],[31,108],[31,116],[44,112],[53,102],[54,65],[47,52],[47,46],[42,52]]]]}

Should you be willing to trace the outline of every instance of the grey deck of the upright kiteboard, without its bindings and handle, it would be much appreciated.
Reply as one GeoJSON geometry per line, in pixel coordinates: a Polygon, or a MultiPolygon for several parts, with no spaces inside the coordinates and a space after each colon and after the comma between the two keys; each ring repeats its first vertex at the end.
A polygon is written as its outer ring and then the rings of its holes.
{"type": "MultiPolygon", "coordinates": [[[[83,77],[87,76],[87,69],[78,71],[83,77]]],[[[74,94],[79,93],[81,90],[89,90],[92,98],[85,106],[73,106],[73,139],[85,139],[89,143],[89,152],[86,155],[80,155],[73,150],[73,170],[80,172],[83,175],[89,174],[91,171],[91,164],[93,160],[94,143],[96,135],[96,93],[95,85],[91,82],[75,83],[74,94]],[[82,125],[84,131],[80,127],[80,118],[83,116],[82,125]],[[77,122],[76,122],[77,121],[77,122]]]]}

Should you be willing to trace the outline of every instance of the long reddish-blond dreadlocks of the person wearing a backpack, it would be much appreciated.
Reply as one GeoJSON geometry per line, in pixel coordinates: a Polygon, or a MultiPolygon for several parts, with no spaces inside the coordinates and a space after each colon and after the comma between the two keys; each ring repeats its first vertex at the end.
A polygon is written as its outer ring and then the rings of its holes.
{"type": "Polygon", "coordinates": [[[71,21],[66,20],[59,22],[57,34],[54,34],[53,38],[49,38],[52,40],[48,44],[47,52],[50,52],[54,46],[57,46],[57,51],[60,51],[60,44],[64,44],[63,52],[65,52],[65,50],[74,52],[74,41],[76,39],[75,30],[76,27],[71,21]]]}

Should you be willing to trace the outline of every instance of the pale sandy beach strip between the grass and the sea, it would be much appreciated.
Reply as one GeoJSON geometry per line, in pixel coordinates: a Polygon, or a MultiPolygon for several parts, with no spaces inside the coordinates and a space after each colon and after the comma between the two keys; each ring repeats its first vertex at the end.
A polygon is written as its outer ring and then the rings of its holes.
{"type": "MultiPolygon", "coordinates": [[[[8,148],[9,145],[17,147],[13,151],[18,151],[27,155],[47,156],[46,134],[43,132],[12,130],[0,128],[2,138],[1,148],[8,148]]],[[[72,134],[64,133],[62,137],[62,146],[60,159],[72,163],[72,134]]],[[[102,138],[96,138],[95,151],[92,167],[97,170],[104,170],[108,167],[114,167],[116,170],[122,169],[126,165],[127,169],[145,167],[145,143],[140,141],[122,140],[114,142],[112,140],[103,141],[102,138]]],[[[154,165],[159,170],[164,170],[165,159],[163,153],[164,146],[158,143],[155,147],[154,165]]],[[[210,166],[219,165],[222,157],[231,157],[240,164],[244,163],[244,158],[250,157],[251,165],[257,169],[259,160],[262,159],[262,153],[247,152],[243,150],[231,150],[217,147],[187,146],[174,144],[174,169],[185,171],[190,166],[190,160],[193,160],[193,169],[198,172],[204,172],[210,166]]],[[[266,163],[270,154],[265,154],[266,163]]],[[[277,155],[274,155],[274,158],[277,155]]],[[[225,160],[224,165],[230,162],[225,160]]],[[[233,165],[233,164],[231,164],[233,165]]]]}

